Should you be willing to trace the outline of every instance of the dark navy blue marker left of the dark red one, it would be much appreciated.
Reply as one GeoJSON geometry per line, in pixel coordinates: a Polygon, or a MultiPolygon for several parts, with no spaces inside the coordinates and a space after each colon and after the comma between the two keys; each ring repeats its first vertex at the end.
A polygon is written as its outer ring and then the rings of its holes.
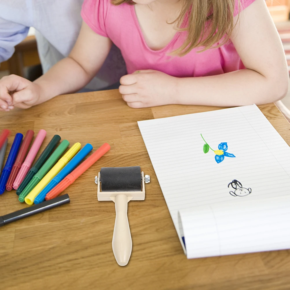
{"type": "Polygon", "coordinates": [[[15,135],[13,144],[11,146],[8,158],[6,160],[5,166],[3,168],[3,171],[0,177],[0,194],[2,194],[5,191],[6,183],[9,178],[12,166],[17,157],[17,153],[18,153],[22,138],[23,138],[23,135],[21,133],[17,133],[15,135]]]}

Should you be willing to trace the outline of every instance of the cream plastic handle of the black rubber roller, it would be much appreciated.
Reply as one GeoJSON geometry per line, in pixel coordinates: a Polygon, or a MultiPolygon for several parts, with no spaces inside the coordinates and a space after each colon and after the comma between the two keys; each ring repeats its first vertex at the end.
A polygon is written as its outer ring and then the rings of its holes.
{"type": "Polygon", "coordinates": [[[115,259],[120,266],[126,266],[132,252],[132,238],[127,216],[128,197],[118,194],[115,197],[116,219],[112,240],[115,259]]]}

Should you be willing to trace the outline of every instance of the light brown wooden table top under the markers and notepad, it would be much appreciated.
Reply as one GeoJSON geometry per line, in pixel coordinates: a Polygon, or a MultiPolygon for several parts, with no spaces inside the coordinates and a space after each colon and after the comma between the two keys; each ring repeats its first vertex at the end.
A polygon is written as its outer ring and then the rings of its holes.
{"type": "MultiPolygon", "coordinates": [[[[273,104],[259,106],[290,144],[290,124],[273,104]]],[[[289,289],[290,252],[272,251],[187,260],[148,157],[137,121],[216,110],[204,106],[132,109],[117,90],[56,97],[28,110],[0,113],[1,128],[47,131],[70,144],[104,142],[111,150],[66,189],[70,204],[0,228],[0,289],[289,289]],[[113,202],[97,201],[101,167],[140,165],[151,176],[145,201],[128,204],[133,251],[117,265],[111,240],[113,202]]],[[[15,191],[0,196],[0,215],[23,208],[15,191]]]]}

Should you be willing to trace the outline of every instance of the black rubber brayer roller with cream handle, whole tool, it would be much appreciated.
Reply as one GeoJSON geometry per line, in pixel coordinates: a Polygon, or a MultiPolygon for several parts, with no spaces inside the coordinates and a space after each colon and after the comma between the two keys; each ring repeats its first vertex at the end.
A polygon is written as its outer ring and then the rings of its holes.
{"type": "Polygon", "coordinates": [[[98,200],[115,202],[116,219],[112,248],[117,263],[125,266],[132,252],[132,238],[127,216],[128,202],[145,199],[144,184],[150,182],[150,176],[144,177],[140,166],[103,167],[95,177],[95,182],[98,185],[98,200]]]}

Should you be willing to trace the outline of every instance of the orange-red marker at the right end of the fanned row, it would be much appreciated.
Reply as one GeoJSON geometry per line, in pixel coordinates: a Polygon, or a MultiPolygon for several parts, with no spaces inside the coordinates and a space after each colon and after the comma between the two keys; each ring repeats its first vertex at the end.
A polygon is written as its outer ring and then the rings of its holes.
{"type": "Polygon", "coordinates": [[[90,168],[98,159],[100,159],[105,153],[110,150],[110,145],[104,143],[98,150],[96,150],[90,157],[82,162],[75,170],[68,174],[57,186],[55,186],[45,197],[46,200],[50,200],[57,197],[62,191],[64,191],[70,184],[72,184],[80,175],[82,175],[88,168],[90,168]]]}

